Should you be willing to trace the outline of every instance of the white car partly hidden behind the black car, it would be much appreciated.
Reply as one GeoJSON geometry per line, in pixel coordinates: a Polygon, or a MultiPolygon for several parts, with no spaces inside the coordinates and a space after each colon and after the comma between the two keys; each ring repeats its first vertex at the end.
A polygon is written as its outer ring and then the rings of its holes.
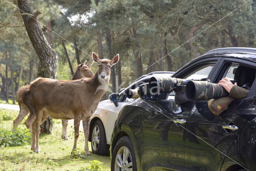
{"type": "Polygon", "coordinates": [[[92,153],[98,155],[109,154],[111,134],[118,113],[123,106],[134,100],[133,98],[127,97],[126,93],[128,90],[135,89],[141,84],[148,83],[152,76],[166,75],[167,77],[170,77],[173,73],[174,72],[158,71],[143,75],[127,88],[121,89],[119,94],[114,93],[119,96],[118,102],[112,102],[110,100],[101,101],[90,120],[89,141],[92,144],[92,153]]]}

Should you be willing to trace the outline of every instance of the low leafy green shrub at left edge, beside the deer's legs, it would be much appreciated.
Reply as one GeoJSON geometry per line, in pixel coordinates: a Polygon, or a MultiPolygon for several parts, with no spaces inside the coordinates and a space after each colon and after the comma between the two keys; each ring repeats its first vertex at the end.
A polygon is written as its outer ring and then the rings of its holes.
{"type": "Polygon", "coordinates": [[[28,129],[16,128],[14,132],[0,126],[0,147],[20,146],[31,142],[31,133],[28,129]]]}

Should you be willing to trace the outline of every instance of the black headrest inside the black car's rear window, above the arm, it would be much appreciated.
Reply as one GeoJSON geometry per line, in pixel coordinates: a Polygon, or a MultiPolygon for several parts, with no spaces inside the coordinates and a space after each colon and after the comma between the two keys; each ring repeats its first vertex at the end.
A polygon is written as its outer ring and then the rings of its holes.
{"type": "Polygon", "coordinates": [[[249,87],[252,86],[252,83],[255,79],[255,69],[239,66],[236,69],[236,73],[234,75],[234,81],[238,86],[243,86],[247,84],[249,87]]]}

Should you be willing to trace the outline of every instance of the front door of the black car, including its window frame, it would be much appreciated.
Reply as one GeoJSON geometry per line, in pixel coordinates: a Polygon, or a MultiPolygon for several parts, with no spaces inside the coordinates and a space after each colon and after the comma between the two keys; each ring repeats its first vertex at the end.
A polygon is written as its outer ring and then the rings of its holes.
{"type": "MultiPolygon", "coordinates": [[[[207,80],[221,58],[203,59],[176,73],[175,77],[207,80]],[[189,72],[187,72],[189,71],[189,72]]],[[[140,139],[142,170],[183,170],[184,128],[188,116],[194,111],[194,103],[179,106],[174,94],[166,101],[144,100],[146,106],[140,139]]]]}

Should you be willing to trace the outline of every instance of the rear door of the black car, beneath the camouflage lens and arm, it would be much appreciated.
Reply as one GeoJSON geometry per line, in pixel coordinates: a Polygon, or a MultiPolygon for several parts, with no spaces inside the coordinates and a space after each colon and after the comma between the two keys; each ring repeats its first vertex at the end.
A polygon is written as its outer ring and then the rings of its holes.
{"type": "MultiPolygon", "coordinates": [[[[223,58],[220,68],[212,80],[221,78],[234,81],[232,71],[239,65],[248,65],[242,60],[223,58]],[[233,80],[232,80],[233,79],[233,80]]],[[[255,106],[245,106],[246,100],[234,100],[227,110],[215,116],[208,108],[207,101],[195,102],[195,110],[186,123],[185,165],[186,170],[220,170],[230,146],[244,126],[255,106]],[[239,101],[241,103],[239,103],[239,101]],[[251,108],[248,110],[248,108],[251,108]]]]}

